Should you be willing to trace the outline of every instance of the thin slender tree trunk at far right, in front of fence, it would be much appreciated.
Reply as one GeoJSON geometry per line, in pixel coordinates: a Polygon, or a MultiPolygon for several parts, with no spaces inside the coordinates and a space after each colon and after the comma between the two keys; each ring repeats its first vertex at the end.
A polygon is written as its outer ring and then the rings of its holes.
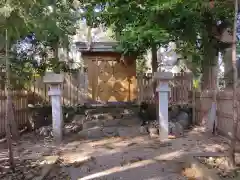
{"type": "Polygon", "coordinates": [[[233,26],[233,40],[232,40],[232,68],[233,68],[233,130],[231,137],[231,146],[230,146],[230,165],[232,168],[235,167],[235,150],[236,150],[236,135],[238,128],[238,120],[237,120],[237,67],[236,67],[236,31],[237,31],[237,13],[238,13],[238,0],[235,0],[235,18],[234,18],[234,26],[233,26]]]}

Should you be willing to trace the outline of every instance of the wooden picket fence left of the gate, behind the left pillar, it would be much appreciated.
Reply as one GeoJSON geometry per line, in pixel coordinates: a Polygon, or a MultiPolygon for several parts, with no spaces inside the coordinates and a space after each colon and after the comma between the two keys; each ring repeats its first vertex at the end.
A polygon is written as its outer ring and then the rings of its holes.
{"type": "MultiPolygon", "coordinates": [[[[3,79],[1,80],[4,85],[3,79]]],[[[86,72],[73,72],[65,74],[62,84],[62,104],[74,106],[83,104],[87,100],[87,75],[86,72]]],[[[0,137],[5,135],[6,92],[3,86],[0,90],[0,137]]],[[[12,99],[15,108],[15,121],[20,129],[28,121],[28,104],[50,103],[48,85],[43,83],[43,77],[35,77],[30,87],[26,90],[14,90],[12,99]]]]}

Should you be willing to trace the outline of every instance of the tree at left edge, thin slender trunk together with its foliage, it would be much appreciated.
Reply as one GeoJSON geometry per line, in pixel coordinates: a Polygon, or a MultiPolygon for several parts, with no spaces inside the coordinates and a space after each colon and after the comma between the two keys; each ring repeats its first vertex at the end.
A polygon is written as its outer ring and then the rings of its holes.
{"type": "MultiPolygon", "coordinates": [[[[34,55],[36,55],[36,52],[30,54],[26,52],[19,53],[14,48],[14,45],[18,44],[19,41],[34,32],[37,41],[35,41],[32,49],[38,47],[36,49],[41,51],[41,53],[38,53],[42,55],[41,58],[44,60],[44,57],[48,54],[39,47],[41,45],[44,46],[44,49],[50,47],[55,56],[53,58],[47,57],[46,59],[57,62],[58,45],[60,44],[60,46],[66,47],[68,45],[68,36],[72,35],[75,31],[74,22],[78,18],[75,12],[75,9],[71,5],[71,1],[0,0],[0,52],[5,54],[6,59],[6,63],[4,64],[7,72],[6,132],[9,148],[9,162],[12,169],[14,169],[14,162],[11,132],[9,130],[13,126],[9,121],[9,118],[12,118],[9,117],[9,115],[13,114],[11,106],[10,69],[28,69],[26,70],[26,72],[28,72],[31,68],[33,68],[32,65],[35,63],[35,61],[33,61],[34,55]]],[[[49,65],[49,63],[43,64],[45,68],[49,65]]]]}

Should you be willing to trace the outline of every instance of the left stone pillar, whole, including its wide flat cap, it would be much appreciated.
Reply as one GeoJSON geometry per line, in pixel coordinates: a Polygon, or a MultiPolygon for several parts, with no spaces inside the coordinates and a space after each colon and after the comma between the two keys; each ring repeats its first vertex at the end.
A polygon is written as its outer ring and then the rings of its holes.
{"type": "Polygon", "coordinates": [[[64,81],[63,74],[47,73],[43,79],[44,83],[49,84],[48,95],[51,96],[52,104],[52,129],[55,142],[62,141],[63,115],[61,104],[61,87],[64,81]]]}

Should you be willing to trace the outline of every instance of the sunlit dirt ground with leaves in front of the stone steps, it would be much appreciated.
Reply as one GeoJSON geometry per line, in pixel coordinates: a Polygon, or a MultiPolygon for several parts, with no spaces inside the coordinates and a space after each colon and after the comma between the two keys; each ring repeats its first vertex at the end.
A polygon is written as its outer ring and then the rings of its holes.
{"type": "MultiPolygon", "coordinates": [[[[187,179],[181,172],[189,153],[227,151],[223,138],[206,135],[201,128],[166,142],[141,135],[137,126],[118,130],[120,137],[84,140],[73,135],[58,146],[28,133],[14,147],[14,155],[21,160],[57,155],[72,180],[181,180],[187,179]]],[[[0,159],[6,158],[5,145],[0,148],[0,159]]]]}

